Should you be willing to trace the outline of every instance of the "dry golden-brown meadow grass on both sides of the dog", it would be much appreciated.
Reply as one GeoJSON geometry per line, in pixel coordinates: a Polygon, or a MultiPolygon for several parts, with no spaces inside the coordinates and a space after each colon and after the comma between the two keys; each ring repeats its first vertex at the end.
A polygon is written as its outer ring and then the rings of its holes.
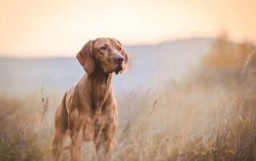
{"type": "MultiPolygon", "coordinates": [[[[202,70],[141,96],[127,94],[119,102],[114,160],[255,160],[256,92],[244,77],[241,82],[238,71],[202,70]]],[[[0,96],[0,160],[50,159],[60,99],[42,98],[0,96]]],[[[82,155],[95,160],[94,147],[84,146],[82,155]]],[[[62,159],[68,158],[64,151],[62,159]]]]}

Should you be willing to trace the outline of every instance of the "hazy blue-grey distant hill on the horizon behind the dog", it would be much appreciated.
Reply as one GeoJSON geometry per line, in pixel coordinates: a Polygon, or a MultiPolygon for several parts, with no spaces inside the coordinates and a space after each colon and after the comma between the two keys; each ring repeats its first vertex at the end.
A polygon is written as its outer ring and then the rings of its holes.
{"type": "MultiPolygon", "coordinates": [[[[114,77],[116,93],[142,91],[170,79],[178,79],[198,65],[213,38],[190,38],[155,45],[126,46],[129,69],[114,77]]],[[[75,54],[74,54],[75,55],[75,54]]],[[[40,92],[60,94],[82,77],[83,70],[72,58],[0,57],[0,93],[27,96],[40,92]]]]}

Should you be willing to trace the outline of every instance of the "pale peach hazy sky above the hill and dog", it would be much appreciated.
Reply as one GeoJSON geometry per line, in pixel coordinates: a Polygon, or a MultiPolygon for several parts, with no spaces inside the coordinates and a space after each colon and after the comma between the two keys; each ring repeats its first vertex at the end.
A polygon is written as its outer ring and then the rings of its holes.
{"type": "Polygon", "coordinates": [[[216,36],[256,42],[255,0],[1,0],[0,55],[69,57],[89,39],[146,44],[216,36]]]}

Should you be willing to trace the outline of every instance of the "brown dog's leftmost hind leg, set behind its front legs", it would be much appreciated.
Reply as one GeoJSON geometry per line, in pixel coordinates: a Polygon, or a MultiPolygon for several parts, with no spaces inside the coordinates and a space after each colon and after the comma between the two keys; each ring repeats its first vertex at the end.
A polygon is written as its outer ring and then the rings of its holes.
{"type": "Polygon", "coordinates": [[[59,160],[62,153],[62,143],[66,137],[66,132],[68,128],[68,114],[66,111],[66,105],[62,104],[58,107],[55,116],[55,132],[54,140],[52,143],[52,159],[55,161],[59,160]]]}

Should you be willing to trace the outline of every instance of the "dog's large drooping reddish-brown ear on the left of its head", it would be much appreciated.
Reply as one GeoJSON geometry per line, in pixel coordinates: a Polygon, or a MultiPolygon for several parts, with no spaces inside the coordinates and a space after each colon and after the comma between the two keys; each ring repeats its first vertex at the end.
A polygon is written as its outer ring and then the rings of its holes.
{"type": "Polygon", "coordinates": [[[88,41],[77,54],[79,63],[88,74],[93,73],[95,68],[94,56],[92,52],[93,45],[94,41],[88,41]]]}

